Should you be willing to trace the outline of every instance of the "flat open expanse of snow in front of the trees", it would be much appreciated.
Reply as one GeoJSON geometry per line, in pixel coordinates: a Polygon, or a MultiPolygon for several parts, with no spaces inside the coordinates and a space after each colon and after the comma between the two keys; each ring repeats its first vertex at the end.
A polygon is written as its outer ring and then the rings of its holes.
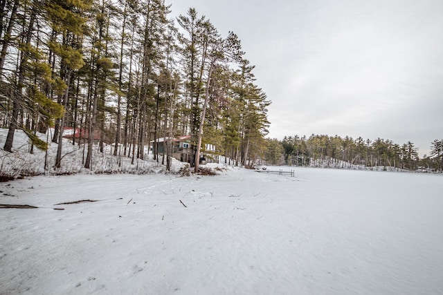
{"type": "Polygon", "coordinates": [[[442,175],[228,168],[0,191],[39,207],[0,209],[0,294],[443,294],[442,175]],[[79,200],[98,202],[60,204],[79,200]]]}

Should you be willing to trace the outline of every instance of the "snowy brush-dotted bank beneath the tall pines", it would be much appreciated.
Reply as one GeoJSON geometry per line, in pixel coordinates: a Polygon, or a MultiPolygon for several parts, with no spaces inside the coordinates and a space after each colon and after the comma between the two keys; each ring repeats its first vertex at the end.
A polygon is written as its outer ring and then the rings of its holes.
{"type": "MultiPolygon", "coordinates": [[[[51,135],[51,129],[48,131],[51,135]]],[[[145,155],[145,160],[134,159],[125,156],[114,156],[114,146],[105,145],[103,153],[98,152],[98,145],[94,146],[92,158],[92,169],[84,169],[84,159],[87,155],[87,149],[84,145],[73,145],[70,140],[64,139],[62,146],[61,167],[55,169],[55,156],[57,155],[57,144],[51,143],[51,136],[37,133],[39,137],[49,144],[46,169],[46,153],[37,148],[30,153],[30,144],[28,137],[23,131],[15,131],[13,153],[3,151],[3,145],[6,142],[8,129],[0,129],[0,173],[17,178],[21,175],[61,175],[72,173],[158,173],[164,172],[165,165],[161,165],[152,158],[152,154],[145,155]]],[[[172,159],[171,172],[177,173],[183,163],[172,159]]]]}

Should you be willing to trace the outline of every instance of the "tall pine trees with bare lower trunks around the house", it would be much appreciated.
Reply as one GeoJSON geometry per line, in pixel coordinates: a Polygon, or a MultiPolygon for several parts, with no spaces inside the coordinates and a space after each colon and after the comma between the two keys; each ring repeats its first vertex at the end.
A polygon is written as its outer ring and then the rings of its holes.
{"type": "MultiPolygon", "coordinates": [[[[191,135],[199,159],[205,143],[237,164],[259,157],[271,103],[255,84],[237,35],[222,37],[190,8],[169,19],[163,0],[0,0],[0,126],[12,152],[23,130],[33,147],[57,144],[65,127],[80,129],[89,169],[98,149],[142,159],[150,142],[191,135]],[[53,134],[42,140],[38,132],[53,134]]],[[[159,160],[158,152],[154,157],[159,160]]],[[[163,157],[163,161],[164,161],[163,157]]],[[[195,161],[198,169],[199,161],[195,161]]]]}

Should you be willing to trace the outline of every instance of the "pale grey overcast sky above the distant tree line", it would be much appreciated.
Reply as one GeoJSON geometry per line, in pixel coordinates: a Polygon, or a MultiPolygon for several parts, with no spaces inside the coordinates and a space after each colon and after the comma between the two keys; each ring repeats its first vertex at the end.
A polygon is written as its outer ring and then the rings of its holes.
{"type": "Polygon", "coordinates": [[[380,137],[421,155],[443,139],[442,0],[166,2],[239,36],[272,101],[269,137],[380,137]]]}

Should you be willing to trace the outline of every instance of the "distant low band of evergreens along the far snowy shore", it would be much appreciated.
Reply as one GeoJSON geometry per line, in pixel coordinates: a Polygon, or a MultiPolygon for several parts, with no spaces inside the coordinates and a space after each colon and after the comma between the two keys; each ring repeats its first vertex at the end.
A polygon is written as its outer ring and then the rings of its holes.
{"type": "Polygon", "coordinates": [[[296,166],[350,165],[383,166],[398,169],[443,171],[443,140],[431,142],[431,155],[419,158],[413,142],[396,144],[392,140],[364,140],[358,137],[328,135],[285,136],[268,140],[265,160],[269,164],[296,166]]]}

